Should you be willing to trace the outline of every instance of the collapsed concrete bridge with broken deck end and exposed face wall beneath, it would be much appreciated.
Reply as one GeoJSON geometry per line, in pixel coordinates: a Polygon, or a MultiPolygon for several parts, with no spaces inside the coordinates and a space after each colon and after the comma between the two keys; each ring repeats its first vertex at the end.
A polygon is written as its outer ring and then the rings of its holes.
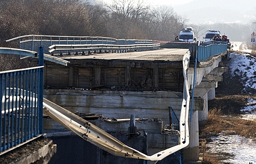
{"type": "MultiPolygon", "coordinates": [[[[208,52],[204,51],[205,56],[210,56],[204,61],[199,61],[200,58],[195,55],[195,60],[190,60],[189,67],[187,62],[185,78],[183,56],[187,52],[190,54],[188,49],[162,48],[126,53],[95,52],[86,55],[68,55],[68,53],[63,55],[62,53],[63,56],[59,58],[69,61],[67,67],[54,64],[52,61],[44,62],[44,86],[46,86],[44,97],[70,112],[102,114],[105,117],[117,118],[117,122],[129,117],[133,112],[139,118],[160,118],[162,120],[160,131],[152,133],[154,127],[146,130],[149,137],[146,141],[148,143],[153,141],[150,137],[154,137],[156,141],[162,140],[161,127],[167,123],[171,124],[169,107],[182,118],[189,113],[182,114],[181,106],[194,108],[194,111],[190,111],[191,122],[188,123],[190,144],[184,149],[184,156],[186,160],[196,160],[198,158],[198,121],[207,119],[207,100],[214,97],[217,81],[222,80],[221,75],[225,72],[225,68],[219,67],[221,66],[219,64],[225,57],[226,50],[224,53],[213,52],[214,55],[205,54],[208,52]],[[187,89],[184,90],[185,82],[187,82],[185,87],[187,89]],[[193,101],[187,99],[186,103],[191,103],[186,106],[182,104],[185,93],[186,96],[192,95],[190,97],[193,99],[193,101]]],[[[37,60],[33,61],[37,62],[37,60]]],[[[49,125],[48,121],[49,119],[44,119],[44,125],[49,125]]],[[[186,122],[188,118],[179,121],[186,122]]],[[[63,131],[61,128],[58,129],[58,126],[54,127],[56,125],[54,122],[50,124],[52,126],[44,127],[45,132],[63,131]]],[[[103,130],[120,131],[120,127],[115,127],[113,124],[101,124],[101,126],[103,130]]],[[[121,130],[129,127],[128,124],[122,125],[122,123],[120,126],[124,126],[121,130]]],[[[145,129],[145,126],[143,128],[145,129]]],[[[171,134],[164,136],[171,136],[171,134]]],[[[181,144],[185,139],[188,139],[188,136],[181,137],[176,143],[172,143],[172,146],[181,144]]],[[[156,143],[150,144],[147,149],[147,151],[150,150],[148,154],[166,149],[164,146],[166,144],[168,142],[159,147],[156,147],[156,143]]]]}

